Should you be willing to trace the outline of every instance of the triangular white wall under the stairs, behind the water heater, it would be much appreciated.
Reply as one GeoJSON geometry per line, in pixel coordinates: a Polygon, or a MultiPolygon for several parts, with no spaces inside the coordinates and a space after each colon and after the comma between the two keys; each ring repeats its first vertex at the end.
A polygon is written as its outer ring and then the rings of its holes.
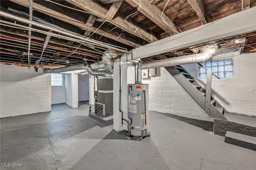
{"type": "Polygon", "coordinates": [[[160,77],[151,77],[151,80],[143,80],[142,83],[149,84],[150,110],[212,121],[164,67],[160,77]]]}

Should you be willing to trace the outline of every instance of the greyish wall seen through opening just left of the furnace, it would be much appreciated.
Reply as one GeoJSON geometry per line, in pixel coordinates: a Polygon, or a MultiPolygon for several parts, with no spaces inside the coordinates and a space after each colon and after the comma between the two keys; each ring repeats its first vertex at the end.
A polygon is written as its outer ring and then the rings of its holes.
{"type": "Polygon", "coordinates": [[[89,75],[78,75],[78,101],[89,100],[89,75]]]}

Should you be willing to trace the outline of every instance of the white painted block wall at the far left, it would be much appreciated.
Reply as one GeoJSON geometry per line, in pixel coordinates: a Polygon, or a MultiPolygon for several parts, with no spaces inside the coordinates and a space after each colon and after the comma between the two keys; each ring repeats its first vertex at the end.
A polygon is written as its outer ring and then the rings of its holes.
{"type": "Polygon", "coordinates": [[[51,110],[50,74],[1,64],[0,75],[0,118],[51,110]]]}

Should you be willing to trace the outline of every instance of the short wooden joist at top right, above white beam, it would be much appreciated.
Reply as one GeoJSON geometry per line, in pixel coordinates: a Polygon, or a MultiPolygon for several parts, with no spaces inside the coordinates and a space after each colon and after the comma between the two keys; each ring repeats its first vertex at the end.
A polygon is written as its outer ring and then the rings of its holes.
{"type": "Polygon", "coordinates": [[[206,24],[206,13],[203,0],[188,0],[192,8],[196,11],[197,16],[202,24],[206,24]]]}

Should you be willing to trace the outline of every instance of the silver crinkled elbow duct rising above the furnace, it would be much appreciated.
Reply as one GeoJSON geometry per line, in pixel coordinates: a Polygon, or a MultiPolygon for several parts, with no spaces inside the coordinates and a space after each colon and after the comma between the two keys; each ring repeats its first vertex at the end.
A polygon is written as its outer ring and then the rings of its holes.
{"type": "Polygon", "coordinates": [[[102,55],[102,62],[103,65],[106,67],[106,70],[109,74],[114,73],[114,67],[112,65],[112,60],[114,57],[117,57],[118,55],[114,53],[113,51],[105,51],[102,55]]]}

